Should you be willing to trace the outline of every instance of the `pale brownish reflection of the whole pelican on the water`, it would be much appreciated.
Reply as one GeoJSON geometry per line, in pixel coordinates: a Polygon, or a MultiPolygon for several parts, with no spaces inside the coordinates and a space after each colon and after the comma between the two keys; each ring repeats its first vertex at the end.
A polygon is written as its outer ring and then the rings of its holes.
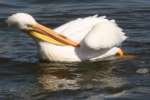
{"type": "Polygon", "coordinates": [[[50,91],[93,88],[110,90],[126,84],[125,79],[116,76],[113,72],[117,65],[115,66],[115,62],[111,61],[78,64],[40,63],[38,65],[39,83],[44,89],[50,91]]]}

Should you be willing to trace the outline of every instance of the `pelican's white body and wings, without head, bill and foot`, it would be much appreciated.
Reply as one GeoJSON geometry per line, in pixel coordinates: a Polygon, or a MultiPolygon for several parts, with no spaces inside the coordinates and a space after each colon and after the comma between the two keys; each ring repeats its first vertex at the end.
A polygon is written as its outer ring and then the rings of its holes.
{"type": "Polygon", "coordinates": [[[114,20],[97,15],[78,18],[54,31],[79,42],[80,47],[59,46],[38,41],[41,58],[50,61],[75,62],[109,57],[118,52],[117,46],[127,38],[114,20]]]}

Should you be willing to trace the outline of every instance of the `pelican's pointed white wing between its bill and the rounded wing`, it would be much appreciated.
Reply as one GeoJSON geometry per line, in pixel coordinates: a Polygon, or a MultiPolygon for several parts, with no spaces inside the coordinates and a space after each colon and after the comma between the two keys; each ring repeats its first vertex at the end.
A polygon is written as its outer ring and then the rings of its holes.
{"type": "Polygon", "coordinates": [[[80,42],[100,19],[103,19],[103,17],[97,17],[97,15],[78,18],[63,24],[54,30],[74,41],[80,42]]]}

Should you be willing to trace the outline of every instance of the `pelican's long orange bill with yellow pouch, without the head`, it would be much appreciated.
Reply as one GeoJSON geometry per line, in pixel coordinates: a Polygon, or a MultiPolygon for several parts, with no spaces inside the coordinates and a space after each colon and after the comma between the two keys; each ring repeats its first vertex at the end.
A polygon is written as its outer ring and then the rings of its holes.
{"type": "Polygon", "coordinates": [[[31,26],[32,30],[30,31],[30,34],[33,37],[36,37],[40,40],[56,44],[56,45],[70,45],[73,47],[79,47],[79,43],[58,34],[57,32],[53,31],[50,28],[47,28],[41,24],[36,24],[31,26]]]}

